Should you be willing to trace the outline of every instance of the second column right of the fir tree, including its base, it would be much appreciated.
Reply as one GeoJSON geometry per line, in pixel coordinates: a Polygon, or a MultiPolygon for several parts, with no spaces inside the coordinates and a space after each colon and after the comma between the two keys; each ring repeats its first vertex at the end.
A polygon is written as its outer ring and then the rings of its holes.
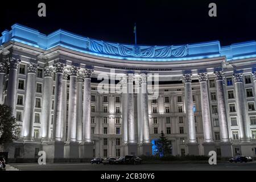
{"type": "Polygon", "coordinates": [[[208,74],[199,73],[200,82],[200,93],[201,93],[201,110],[203,118],[203,129],[204,129],[204,155],[209,154],[209,151],[214,150],[214,143],[212,139],[212,126],[210,123],[210,106],[209,106],[209,96],[208,96],[208,74]]]}

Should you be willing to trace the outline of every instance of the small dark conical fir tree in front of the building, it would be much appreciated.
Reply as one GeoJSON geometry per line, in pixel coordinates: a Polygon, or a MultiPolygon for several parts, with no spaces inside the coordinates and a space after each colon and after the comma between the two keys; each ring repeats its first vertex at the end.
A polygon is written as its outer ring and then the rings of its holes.
{"type": "Polygon", "coordinates": [[[167,156],[171,154],[171,149],[169,147],[168,138],[164,136],[163,131],[156,142],[156,155],[160,157],[167,156]]]}

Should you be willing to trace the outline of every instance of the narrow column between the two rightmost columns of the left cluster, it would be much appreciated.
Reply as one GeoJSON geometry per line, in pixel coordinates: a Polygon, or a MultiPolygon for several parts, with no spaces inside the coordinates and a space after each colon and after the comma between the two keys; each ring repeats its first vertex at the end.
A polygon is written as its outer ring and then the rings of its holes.
{"type": "Polygon", "coordinates": [[[76,139],[82,141],[82,82],[84,78],[81,74],[77,75],[77,120],[76,120],[76,139]]]}

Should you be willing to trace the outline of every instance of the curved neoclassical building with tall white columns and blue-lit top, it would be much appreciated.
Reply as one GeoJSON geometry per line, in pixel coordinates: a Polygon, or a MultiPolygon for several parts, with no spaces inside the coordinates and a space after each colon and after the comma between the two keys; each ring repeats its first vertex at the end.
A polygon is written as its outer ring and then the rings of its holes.
{"type": "Polygon", "coordinates": [[[137,46],[14,24],[0,38],[0,104],[19,139],[10,159],[256,156],[256,42],[137,46]]]}

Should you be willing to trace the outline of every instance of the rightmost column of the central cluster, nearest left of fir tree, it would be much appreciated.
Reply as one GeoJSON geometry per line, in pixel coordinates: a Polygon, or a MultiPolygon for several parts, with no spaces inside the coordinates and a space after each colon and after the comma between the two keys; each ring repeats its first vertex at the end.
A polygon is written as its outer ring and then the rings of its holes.
{"type": "Polygon", "coordinates": [[[147,75],[141,74],[141,105],[142,105],[142,131],[143,131],[143,155],[152,154],[150,142],[149,119],[148,119],[148,92],[147,75]]]}

